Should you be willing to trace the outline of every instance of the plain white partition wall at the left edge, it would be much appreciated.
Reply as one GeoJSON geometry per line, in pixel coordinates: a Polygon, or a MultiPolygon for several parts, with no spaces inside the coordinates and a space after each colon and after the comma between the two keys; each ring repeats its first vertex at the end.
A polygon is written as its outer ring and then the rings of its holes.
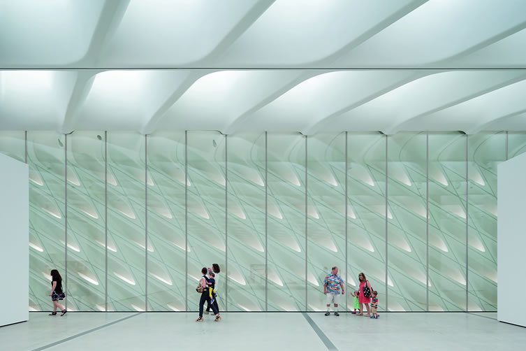
{"type": "Polygon", "coordinates": [[[0,326],[29,319],[29,171],[0,154],[0,326]]]}

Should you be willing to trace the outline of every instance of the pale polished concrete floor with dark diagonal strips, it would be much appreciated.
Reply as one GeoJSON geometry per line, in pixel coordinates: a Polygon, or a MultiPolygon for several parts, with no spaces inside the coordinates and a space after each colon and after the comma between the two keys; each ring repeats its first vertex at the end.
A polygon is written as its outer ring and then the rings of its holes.
{"type": "Polygon", "coordinates": [[[495,313],[31,313],[0,328],[0,350],[521,350],[526,329],[495,313]]]}

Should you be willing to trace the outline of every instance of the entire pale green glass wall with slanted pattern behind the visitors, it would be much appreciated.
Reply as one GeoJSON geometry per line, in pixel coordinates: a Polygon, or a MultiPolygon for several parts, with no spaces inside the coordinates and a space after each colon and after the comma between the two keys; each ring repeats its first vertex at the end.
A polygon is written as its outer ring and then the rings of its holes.
{"type": "MultiPolygon", "coordinates": [[[[29,164],[29,310],[323,310],[363,272],[391,311],[497,310],[497,164],[524,133],[1,131],[29,164]]],[[[351,299],[342,299],[350,308],[351,299]]],[[[344,305],[345,303],[345,305],[344,305]]]]}

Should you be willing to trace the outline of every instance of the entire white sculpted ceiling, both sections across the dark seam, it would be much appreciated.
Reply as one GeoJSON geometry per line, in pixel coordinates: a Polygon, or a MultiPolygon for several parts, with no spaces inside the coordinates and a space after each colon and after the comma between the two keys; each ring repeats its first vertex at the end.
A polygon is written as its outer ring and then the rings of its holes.
{"type": "Polygon", "coordinates": [[[525,130],[525,43],[522,0],[7,0],[0,129],[525,130]]]}

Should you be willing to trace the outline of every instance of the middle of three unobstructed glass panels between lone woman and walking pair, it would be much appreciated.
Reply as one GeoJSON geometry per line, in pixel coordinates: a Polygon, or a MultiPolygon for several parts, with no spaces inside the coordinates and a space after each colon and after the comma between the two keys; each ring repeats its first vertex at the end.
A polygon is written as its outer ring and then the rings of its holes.
{"type": "MultiPolygon", "coordinates": [[[[149,185],[152,180],[148,180],[149,185]]],[[[108,310],[145,310],[145,136],[108,133],[108,310]]]]}

